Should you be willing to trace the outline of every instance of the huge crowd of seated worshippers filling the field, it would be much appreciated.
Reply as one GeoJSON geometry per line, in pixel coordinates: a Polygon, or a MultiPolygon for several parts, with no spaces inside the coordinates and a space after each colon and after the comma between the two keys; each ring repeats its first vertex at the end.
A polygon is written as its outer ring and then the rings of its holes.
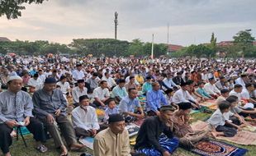
{"type": "Polygon", "coordinates": [[[232,137],[246,124],[244,117],[256,118],[255,62],[61,60],[1,60],[0,147],[5,156],[11,155],[9,146],[18,126],[34,135],[41,153],[48,150],[48,132],[60,155],[85,148],[78,139],[91,136],[96,156],[168,156],[178,145],[191,149],[209,136],[232,137]],[[138,96],[144,96],[145,103],[138,96]],[[208,120],[208,129],[193,131],[189,114],[207,100],[216,100],[218,109],[208,120]],[[102,121],[96,109],[104,110],[102,121]],[[131,152],[125,126],[138,120],[144,122],[131,152]]]}

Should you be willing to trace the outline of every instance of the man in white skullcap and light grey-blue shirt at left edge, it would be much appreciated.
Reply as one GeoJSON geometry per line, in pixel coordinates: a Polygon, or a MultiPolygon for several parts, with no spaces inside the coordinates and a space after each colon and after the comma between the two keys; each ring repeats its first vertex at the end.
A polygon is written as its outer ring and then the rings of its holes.
{"type": "Polygon", "coordinates": [[[5,156],[10,156],[9,146],[12,145],[11,133],[14,127],[26,126],[36,140],[36,149],[44,153],[45,131],[42,122],[32,115],[33,103],[29,94],[21,91],[20,76],[7,78],[7,91],[0,94],[0,148],[5,156]]]}

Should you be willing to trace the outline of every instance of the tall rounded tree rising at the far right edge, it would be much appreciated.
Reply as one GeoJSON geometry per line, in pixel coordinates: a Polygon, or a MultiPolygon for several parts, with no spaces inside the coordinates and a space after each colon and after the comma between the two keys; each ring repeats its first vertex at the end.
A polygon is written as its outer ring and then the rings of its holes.
{"type": "Polygon", "coordinates": [[[242,56],[249,52],[249,49],[253,47],[255,38],[251,34],[251,30],[239,31],[234,37],[234,44],[239,46],[242,50],[242,56]]]}

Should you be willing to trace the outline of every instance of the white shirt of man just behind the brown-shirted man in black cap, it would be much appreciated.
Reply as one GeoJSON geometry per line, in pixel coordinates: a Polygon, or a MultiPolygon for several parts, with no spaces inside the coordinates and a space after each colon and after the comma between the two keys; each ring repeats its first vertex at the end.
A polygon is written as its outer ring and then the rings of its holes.
{"type": "Polygon", "coordinates": [[[178,89],[178,91],[173,94],[173,103],[190,103],[189,100],[196,102],[196,99],[194,99],[187,90],[178,89]]]}

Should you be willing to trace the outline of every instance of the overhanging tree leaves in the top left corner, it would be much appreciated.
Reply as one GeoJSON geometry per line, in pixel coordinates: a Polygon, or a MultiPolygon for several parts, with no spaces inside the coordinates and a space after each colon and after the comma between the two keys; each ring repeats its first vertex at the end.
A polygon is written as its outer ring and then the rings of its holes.
{"type": "Polygon", "coordinates": [[[1,0],[0,1],[0,16],[6,15],[7,19],[16,19],[21,16],[21,10],[26,9],[24,3],[42,3],[45,0],[1,0]]]}

